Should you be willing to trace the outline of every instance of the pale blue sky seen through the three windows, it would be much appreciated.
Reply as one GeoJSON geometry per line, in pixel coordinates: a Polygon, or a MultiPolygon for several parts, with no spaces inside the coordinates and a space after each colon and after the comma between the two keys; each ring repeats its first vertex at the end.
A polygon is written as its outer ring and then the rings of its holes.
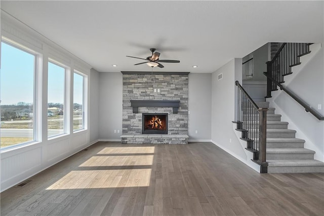
{"type": "MultiPolygon", "coordinates": [[[[33,103],[35,56],[1,43],[1,105],[33,103]]],[[[65,69],[49,62],[48,102],[64,102],[65,69]]],[[[73,103],[82,104],[83,76],[74,73],[73,103]]]]}

